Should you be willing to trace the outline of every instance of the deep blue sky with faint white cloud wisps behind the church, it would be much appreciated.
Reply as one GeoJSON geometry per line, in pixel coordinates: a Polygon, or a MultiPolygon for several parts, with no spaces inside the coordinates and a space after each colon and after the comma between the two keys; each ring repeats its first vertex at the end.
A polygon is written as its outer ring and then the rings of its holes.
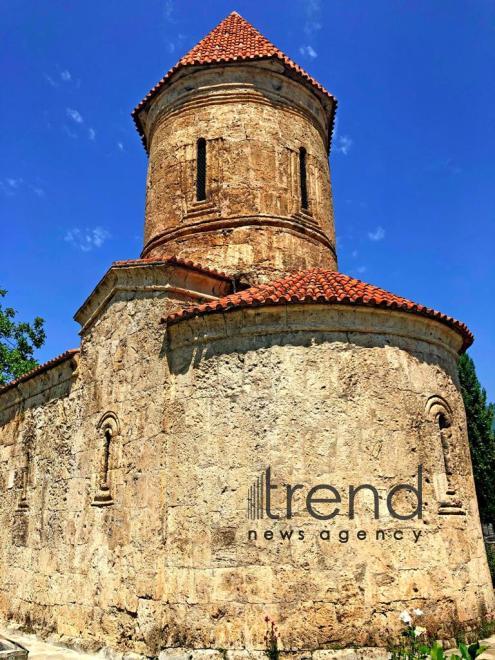
{"type": "Polygon", "coordinates": [[[46,360],[110,263],[139,256],[146,156],[129,116],[236,9],[339,99],[340,270],[466,322],[495,400],[493,0],[2,3],[0,287],[46,360]]]}

